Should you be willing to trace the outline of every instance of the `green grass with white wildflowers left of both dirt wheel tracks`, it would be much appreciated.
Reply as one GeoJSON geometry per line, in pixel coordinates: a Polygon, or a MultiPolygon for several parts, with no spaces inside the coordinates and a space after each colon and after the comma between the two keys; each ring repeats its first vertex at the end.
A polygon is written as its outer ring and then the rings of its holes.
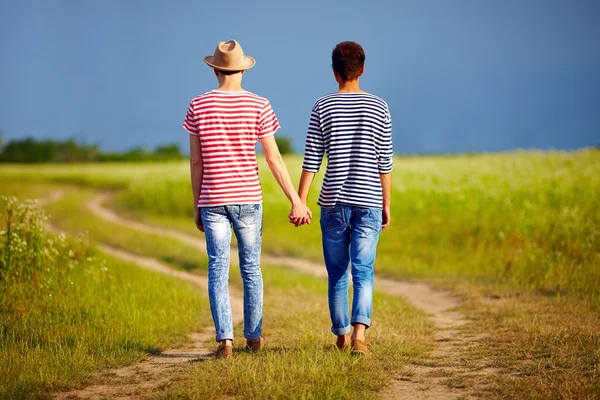
{"type": "Polygon", "coordinates": [[[0,398],[49,397],[209,323],[188,285],[47,235],[33,202],[0,210],[0,398]]]}

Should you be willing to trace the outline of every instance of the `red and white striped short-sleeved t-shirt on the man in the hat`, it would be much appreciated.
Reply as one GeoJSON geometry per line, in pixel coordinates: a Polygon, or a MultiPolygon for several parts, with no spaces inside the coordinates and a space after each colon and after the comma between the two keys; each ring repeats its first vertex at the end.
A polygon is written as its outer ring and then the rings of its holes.
{"type": "Polygon", "coordinates": [[[202,146],[198,207],[262,203],[256,142],[279,129],[269,100],[213,90],[192,100],[183,127],[202,146]]]}

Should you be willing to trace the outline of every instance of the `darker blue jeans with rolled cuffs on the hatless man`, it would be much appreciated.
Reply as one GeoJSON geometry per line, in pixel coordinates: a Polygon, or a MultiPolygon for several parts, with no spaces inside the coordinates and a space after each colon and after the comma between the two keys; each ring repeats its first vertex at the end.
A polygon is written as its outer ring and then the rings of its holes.
{"type": "Polygon", "coordinates": [[[337,204],[321,208],[323,255],[329,280],[329,314],[335,335],[350,325],[371,326],[373,263],[381,233],[381,210],[337,204]],[[354,295],[348,315],[348,271],[352,265],[354,295]]]}

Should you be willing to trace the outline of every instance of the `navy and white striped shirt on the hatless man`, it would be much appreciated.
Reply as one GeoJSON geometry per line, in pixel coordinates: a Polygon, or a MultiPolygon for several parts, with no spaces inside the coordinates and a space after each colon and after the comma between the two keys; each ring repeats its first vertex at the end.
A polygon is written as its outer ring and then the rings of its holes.
{"type": "Polygon", "coordinates": [[[318,204],[382,208],[379,174],[392,172],[392,117],[369,93],[332,93],[317,100],[310,116],[302,168],[327,170],[318,204]]]}

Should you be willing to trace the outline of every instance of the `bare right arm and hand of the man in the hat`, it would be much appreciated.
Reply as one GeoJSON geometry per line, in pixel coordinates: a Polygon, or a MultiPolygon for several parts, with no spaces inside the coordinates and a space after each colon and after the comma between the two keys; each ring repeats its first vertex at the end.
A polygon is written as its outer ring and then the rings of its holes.
{"type": "Polygon", "coordinates": [[[292,203],[292,211],[289,215],[290,219],[296,220],[296,226],[310,223],[312,213],[308,207],[302,203],[298,193],[296,193],[296,190],[294,189],[294,185],[290,179],[290,174],[285,166],[283,157],[281,157],[281,153],[279,153],[279,148],[277,147],[275,138],[273,135],[264,137],[260,139],[260,145],[263,149],[263,153],[265,154],[265,158],[271,173],[275,177],[275,180],[285,193],[290,203],[292,203]]]}

